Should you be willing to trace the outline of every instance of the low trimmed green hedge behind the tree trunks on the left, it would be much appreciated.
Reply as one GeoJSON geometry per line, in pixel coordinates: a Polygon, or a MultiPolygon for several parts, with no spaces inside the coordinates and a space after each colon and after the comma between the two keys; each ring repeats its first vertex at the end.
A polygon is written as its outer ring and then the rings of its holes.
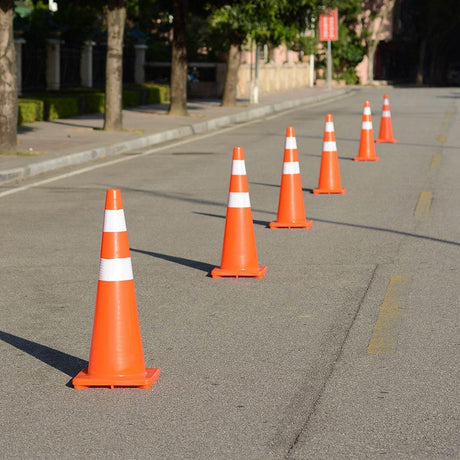
{"type": "MultiPolygon", "coordinates": [[[[169,100],[169,86],[155,83],[128,85],[123,90],[123,107],[158,104],[169,100]]],[[[18,101],[18,123],[49,121],[88,113],[104,113],[105,94],[95,89],[74,88],[65,93],[31,94],[18,101]]]]}

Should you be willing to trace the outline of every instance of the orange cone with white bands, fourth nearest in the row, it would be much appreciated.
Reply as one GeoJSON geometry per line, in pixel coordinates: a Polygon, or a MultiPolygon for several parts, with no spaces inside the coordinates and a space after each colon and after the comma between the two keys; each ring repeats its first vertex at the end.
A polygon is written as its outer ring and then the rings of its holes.
{"type": "Polygon", "coordinates": [[[340,184],[339,158],[335,143],[334,121],[332,115],[329,113],[326,115],[319,185],[318,188],[313,190],[313,193],[315,195],[319,193],[345,193],[345,189],[340,184]]]}

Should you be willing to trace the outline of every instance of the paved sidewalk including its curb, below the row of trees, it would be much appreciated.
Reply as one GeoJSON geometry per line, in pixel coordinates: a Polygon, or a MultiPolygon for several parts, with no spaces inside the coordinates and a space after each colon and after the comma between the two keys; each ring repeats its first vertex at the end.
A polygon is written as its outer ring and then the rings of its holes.
{"type": "Polygon", "coordinates": [[[334,99],[351,91],[305,88],[264,95],[255,106],[239,101],[237,107],[221,107],[216,99],[197,99],[187,104],[189,117],[167,115],[168,104],[140,106],[123,110],[121,132],[103,131],[102,114],[22,125],[18,128],[19,153],[0,155],[0,184],[334,99]]]}

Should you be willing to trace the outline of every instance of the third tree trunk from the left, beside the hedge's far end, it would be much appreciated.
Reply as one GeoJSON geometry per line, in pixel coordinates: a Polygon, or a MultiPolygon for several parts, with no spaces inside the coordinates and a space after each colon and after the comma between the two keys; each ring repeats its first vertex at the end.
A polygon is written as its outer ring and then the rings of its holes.
{"type": "Polygon", "coordinates": [[[173,2],[173,42],[171,55],[170,115],[186,116],[187,112],[187,0],[173,2]]]}

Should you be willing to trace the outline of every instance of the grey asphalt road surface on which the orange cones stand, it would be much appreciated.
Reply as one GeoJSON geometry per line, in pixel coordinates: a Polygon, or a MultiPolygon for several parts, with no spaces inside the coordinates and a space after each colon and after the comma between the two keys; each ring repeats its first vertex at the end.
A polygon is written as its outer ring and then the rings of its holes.
{"type": "Polygon", "coordinates": [[[387,91],[398,142],[376,163],[352,161],[364,100],[376,137],[382,107],[362,90],[0,189],[2,458],[458,458],[460,91],[387,91]],[[341,196],[311,193],[327,112],[341,196]],[[288,125],[308,230],[266,228],[288,125]],[[236,145],[263,279],[207,276],[236,145]],[[151,390],[70,385],[107,188],[122,191],[145,360],[162,372],[151,390]]]}

